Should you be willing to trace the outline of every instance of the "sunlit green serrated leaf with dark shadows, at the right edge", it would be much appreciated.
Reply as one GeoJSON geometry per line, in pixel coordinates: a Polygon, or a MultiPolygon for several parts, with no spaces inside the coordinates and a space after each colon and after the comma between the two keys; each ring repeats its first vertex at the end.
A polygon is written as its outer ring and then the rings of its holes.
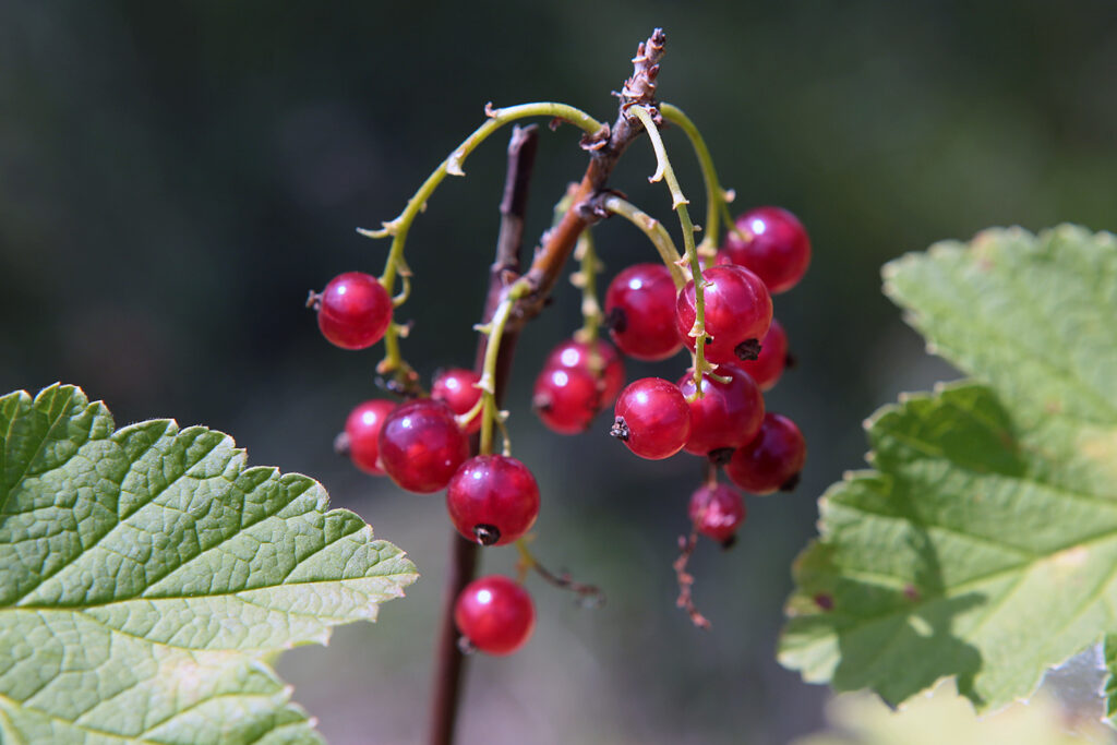
{"type": "Polygon", "coordinates": [[[873,470],[822,497],[780,658],[894,704],[956,677],[997,708],[1117,632],[1117,240],[990,230],[884,274],[975,380],[868,422],[873,470]]]}

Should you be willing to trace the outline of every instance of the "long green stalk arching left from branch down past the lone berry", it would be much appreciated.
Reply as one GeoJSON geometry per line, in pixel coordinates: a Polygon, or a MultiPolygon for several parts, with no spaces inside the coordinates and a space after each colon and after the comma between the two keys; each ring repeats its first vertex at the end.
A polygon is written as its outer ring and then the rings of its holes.
{"type": "MultiPolygon", "coordinates": [[[[488,121],[466,137],[461,144],[458,145],[457,149],[450,153],[437,169],[435,169],[435,172],[427,176],[427,180],[422,182],[422,185],[419,187],[419,190],[414,193],[414,195],[408,200],[407,207],[403,208],[403,211],[400,212],[399,217],[389,222],[384,222],[383,228],[380,230],[357,228],[357,232],[369,238],[392,237],[392,247],[388,251],[388,259],[384,262],[384,273],[380,276],[380,284],[384,286],[384,289],[388,290],[389,295],[392,295],[395,290],[397,275],[407,271],[407,265],[403,262],[403,246],[407,243],[408,231],[411,229],[411,223],[414,222],[416,217],[418,217],[418,214],[427,208],[427,200],[430,199],[431,194],[435,193],[435,190],[440,183],[442,183],[447,175],[465,175],[465,172],[461,170],[461,164],[465,162],[466,157],[474,150],[476,150],[478,145],[485,142],[490,134],[509,122],[531,116],[550,116],[552,118],[560,118],[577,126],[589,135],[595,135],[603,131],[603,125],[600,122],[580,108],[553,102],[521,104],[518,106],[508,106],[507,108],[486,107],[485,113],[488,115],[488,121]]],[[[389,327],[388,333],[384,334],[384,360],[379,366],[381,372],[410,372],[410,367],[405,362],[403,362],[403,359],[400,355],[398,333],[393,327],[389,327]]]]}

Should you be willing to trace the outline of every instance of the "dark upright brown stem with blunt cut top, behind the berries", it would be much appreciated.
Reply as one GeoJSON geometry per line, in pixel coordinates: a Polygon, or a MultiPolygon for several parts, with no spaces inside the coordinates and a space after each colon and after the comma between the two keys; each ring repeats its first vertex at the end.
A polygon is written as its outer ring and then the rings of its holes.
{"type": "MultiPolygon", "coordinates": [[[[538,146],[538,128],[534,125],[514,127],[508,142],[508,171],[505,180],[504,199],[500,200],[500,235],[497,238],[496,259],[489,269],[489,288],[485,300],[485,323],[491,319],[505,288],[515,281],[519,273],[519,249],[524,241],[524,211],[527,206],[527,187],[535,163],[538,146]]],[[[497,403],[503,400],[508,372],[512,369],[513,351],[518,332],[506,331],[500,340],[497,356],[495,394],[497,403]]],[[[475,369],[481,371],[485,360],[487,337],[481,335],[477,344],[475,369]]],[[[474,440],[474,452],[477,441],[474,440]]],[[[462,538],[457,531],[450,534],[450,571],[446,580],[442,598],[442,622],[438,636],[438,658],[435,669],[435,695],[430,714],[431,745],[450,745],[454,742],[454,724],[461,697],[461,677],[465,656],[458,647],[458,629],[454,623],[454,603],[462,589],[477,573],[477,544],[462,538]]]]}

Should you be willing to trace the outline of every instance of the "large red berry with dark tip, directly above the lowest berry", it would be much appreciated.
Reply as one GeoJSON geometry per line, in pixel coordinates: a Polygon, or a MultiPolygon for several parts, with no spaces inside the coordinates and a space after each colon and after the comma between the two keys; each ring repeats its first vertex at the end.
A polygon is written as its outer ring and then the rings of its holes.
{"type": "Polygon", "coordinates": [[[540,514],[540,487],[527,466],[506,456],[475,456],[461,464],[446,490],[458,533],[483,546],[521,537],[540,514]]]}

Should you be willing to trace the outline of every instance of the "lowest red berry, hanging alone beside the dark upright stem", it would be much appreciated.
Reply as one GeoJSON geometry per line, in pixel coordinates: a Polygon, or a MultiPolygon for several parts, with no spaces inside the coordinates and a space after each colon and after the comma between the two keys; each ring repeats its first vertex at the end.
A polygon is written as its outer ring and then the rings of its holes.
{"type": "Polygon", "coordinates": [[[535,605],[521,585],[490,574],[466,585],[454,604],[454,622],[474,647],[489,655],[512,655],[535,628],[535,605]]]}

